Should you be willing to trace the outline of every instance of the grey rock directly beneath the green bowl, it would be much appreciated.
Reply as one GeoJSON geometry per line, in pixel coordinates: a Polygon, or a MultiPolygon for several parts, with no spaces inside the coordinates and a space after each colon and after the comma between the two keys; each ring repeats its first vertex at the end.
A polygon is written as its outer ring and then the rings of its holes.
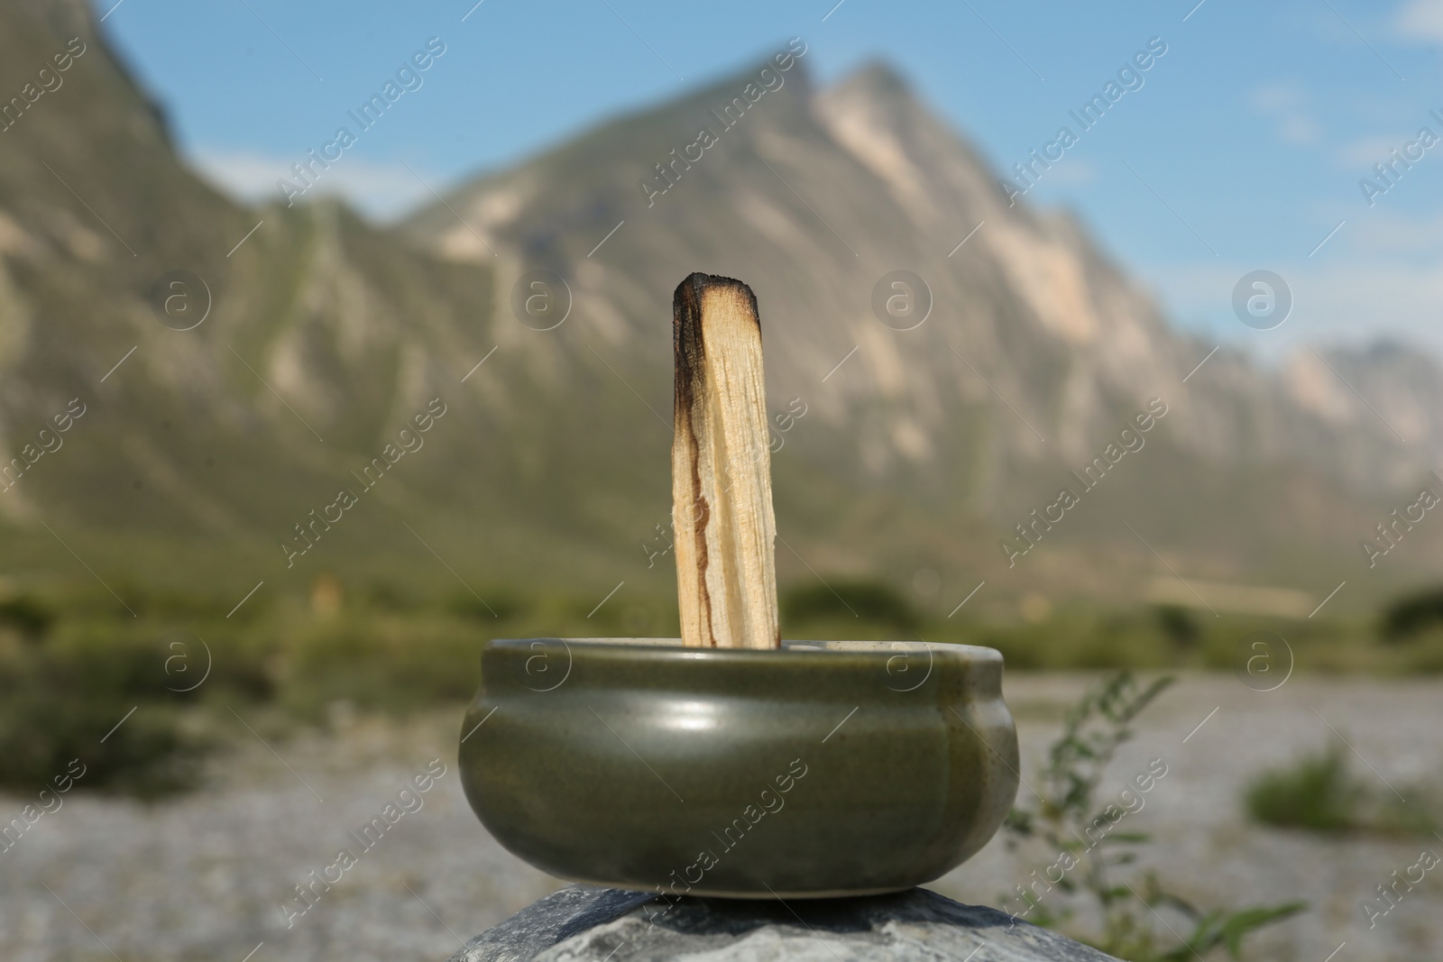
{"type": "Polygon", "coordinates": [[[1117,962],[980,906],[912,888],[818,900],[668,900],[571,886],[483,932],[450,962],[1117,962]]]}

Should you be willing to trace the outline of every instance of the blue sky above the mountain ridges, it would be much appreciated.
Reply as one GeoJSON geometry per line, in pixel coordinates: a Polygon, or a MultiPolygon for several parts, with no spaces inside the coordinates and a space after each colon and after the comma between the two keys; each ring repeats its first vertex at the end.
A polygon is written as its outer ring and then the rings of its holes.
{"type": "Polygon", "coordinates": [[[1143,87],[1027,200],[1074,209],[1206,337],[1264,358],[1385,335],[1443,350],[1443,143],[1414,146],[1421,159],[1392,185],[1372,172],[1421,127],[1443,137],[1430,115],[1443,118],[1443,0],[473,3],[100,0],[97,12],[186,156],[238,196],[278,196],[276,177],[440,37],[446,52],[404,108],[328,175],[378,219],[424,200],[421,180],[444,189],[522,160],[791,36],[823,84],[889,61],[1003,172],[1160,37],[1167,52],[1143,87]],[[1369,176],[1388,186],[1371,206],[1369,176]],[[1232,313],[1234,284],[1258,268],[1293,291],[1274,330],[1232,313]]]}

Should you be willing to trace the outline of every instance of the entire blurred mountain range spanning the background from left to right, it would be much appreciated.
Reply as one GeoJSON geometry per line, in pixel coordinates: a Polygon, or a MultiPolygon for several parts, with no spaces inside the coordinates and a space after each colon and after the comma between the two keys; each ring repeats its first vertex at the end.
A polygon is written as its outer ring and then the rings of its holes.
{"type": "Polygon", "coordinates": [[[1434,362],[1274,374],[1219,350],[1188,376],[1212,345],[1074,218],[1009,206],[883,65],[818,91],[794,49],[381,229],[208,187],[82,0],[17,0],[0,27],[0,92],[25,100],[0,131],[14,580],[674,599],[671,291],[694,270],[760,303],[784,581],[882,578],[945,612],[981,580],[986,609],[1136,600],[1170,571],[1317,599],[1355,578],[1356,600],[1437,574],[1358,567],[1443,449],[1434,362]],[[876,296],[899,270],[929,291],[921,323],[873,306],[908,293],[876,296]],[[175,271],[211,304],[189,330],[163,309],[175,271]],[[566,281],[558,325],[524,310],[534,271],[566,281]],[[1049,508],[1063,487],[1076,503],[1049,508]]]}

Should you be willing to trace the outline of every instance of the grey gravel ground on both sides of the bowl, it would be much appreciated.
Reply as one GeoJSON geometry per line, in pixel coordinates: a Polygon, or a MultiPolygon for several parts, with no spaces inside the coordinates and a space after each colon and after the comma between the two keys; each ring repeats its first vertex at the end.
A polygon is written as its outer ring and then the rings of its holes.
{"type": "MultiPolygon", "coordinates": [[[[1025,779],[1062,707],[1087,684],[1075,675],[1009,676],[1025,779]]],[[[560,886],[501,850],[470,813],[455,770],[457,725],[459,711],[404,724],[362,718],[338,724],[333,734],[286,740],[257,725],[276,751],[255,738],[240,743],[218,760],[209,786],[183,799],[146,806],[72,792],[0,854],[0,958],[447,958],[560,886]],[[359,851],[348,829],[380,815],[433,759],[446,773],[420,796],[423,808],[404,813],[287,927],[280,904],[293,886],[330,865],[339,848],[359,851]]],[[[1310,903],[1309,913],[1254,936],[1247,958],[1325,962],[1346,943],[1333,962],[1443,959],[1443,871],[1429,873],[1372,929],[1361,909],[1375,886],[1417,861],[1420,848],[1443,854],[1443,839],[1319,839],[1253,828],[1242,818],[1248,777],[1325,746],[1329,725],[1378,790],[1388,790],[1384,780],[1404,795],[1437,783],[1443,682],[1299,676],[1260,694],[1231,676],[1189,676],[1143,715],[1102,792],[1115,793],[1162,759],[1167,775],[1127,821],[1157,839],[1146,865],[1205,906],[1310,903]]],[[[30,800],[0,796],[0,816],[19,815],[30,800]]],[[[1053,858],[1038,850],[1009,854],[994,839],[931,887],[996,906],[1053,858]]]]}

